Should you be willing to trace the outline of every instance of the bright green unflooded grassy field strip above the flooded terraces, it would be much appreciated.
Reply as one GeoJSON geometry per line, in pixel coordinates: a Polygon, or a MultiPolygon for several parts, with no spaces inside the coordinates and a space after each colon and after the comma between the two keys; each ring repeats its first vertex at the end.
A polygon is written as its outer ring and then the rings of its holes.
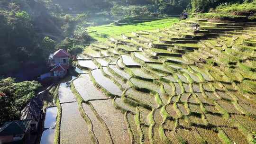
{"type": "Polygon", "coordinates": [[[171,27],[178,22],[178,18],[156,19],[151,22],[131,23],[124,26],[103,25],[97,27],[88,27],[89,35],[98,41],[104,42],[111,36],[119,36],[121,34],[130,33],[140,30],[151,30],[157,28],[171,27]]]}

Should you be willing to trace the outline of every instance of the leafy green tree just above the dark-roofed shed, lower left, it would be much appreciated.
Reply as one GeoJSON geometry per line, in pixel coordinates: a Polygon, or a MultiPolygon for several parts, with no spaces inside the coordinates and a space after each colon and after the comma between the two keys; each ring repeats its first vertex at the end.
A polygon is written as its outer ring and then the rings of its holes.
{"type": "Polygon", "coordinates": [[[41,85],[37,81],[0,80],[0,125],[4,121],[18,119],[21,110],[36,95],[39,87],[41,85]]]}

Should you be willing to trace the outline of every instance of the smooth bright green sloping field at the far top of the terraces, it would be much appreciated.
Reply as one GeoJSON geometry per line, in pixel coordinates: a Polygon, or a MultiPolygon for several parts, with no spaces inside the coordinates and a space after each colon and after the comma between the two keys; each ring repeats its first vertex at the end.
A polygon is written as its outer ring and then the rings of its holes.
{"type": "Polygon", "coordinates": [[[119,36],[137,30],[164,28],[178,22],[178,18],[127,17],[109,25],[88,27],[89,35],[97,41],[107,41],[110,36],[119,36]]]}

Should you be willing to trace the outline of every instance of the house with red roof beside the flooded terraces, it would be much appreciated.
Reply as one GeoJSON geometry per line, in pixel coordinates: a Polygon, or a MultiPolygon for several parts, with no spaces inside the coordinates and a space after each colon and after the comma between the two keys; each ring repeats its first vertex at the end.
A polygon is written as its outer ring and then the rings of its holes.
{"type": "Polygon", "coordinates": [[[53,72],[53,76],[63,77],[66,75],[69,69],[69,57],[70,54],[63,49],[59,49],[55,53],[50,54],[48,63],[52,68],[51,72],[53,72]]]}

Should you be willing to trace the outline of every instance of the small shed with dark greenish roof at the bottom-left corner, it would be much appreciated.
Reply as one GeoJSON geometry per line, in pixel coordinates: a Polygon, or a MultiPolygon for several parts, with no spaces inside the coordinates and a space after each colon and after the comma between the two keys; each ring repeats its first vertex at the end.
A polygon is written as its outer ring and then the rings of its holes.
{"type": "Polygon", "coordinates": [[[27,144],[31,120],[6,122],[0,128],[0,144],[27,144]]]}

